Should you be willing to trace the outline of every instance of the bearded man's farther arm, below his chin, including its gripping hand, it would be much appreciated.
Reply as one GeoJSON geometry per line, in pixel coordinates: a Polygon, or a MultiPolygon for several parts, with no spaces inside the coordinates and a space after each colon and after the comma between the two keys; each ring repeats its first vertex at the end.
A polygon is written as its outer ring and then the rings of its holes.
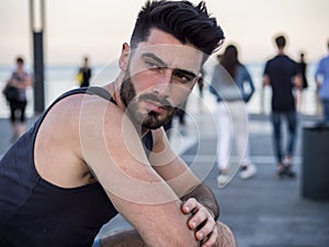
{"type": "Polygon", "coordinates": [[[215,218],[218,205],[211,190],[192,172],[190,167],[171,149],[162,128],[154,133],[150,162],[175,194],[183,200],[181,211],[189,216],[188,225],[195,239],[213,246],[218,233],[215,218]]]}

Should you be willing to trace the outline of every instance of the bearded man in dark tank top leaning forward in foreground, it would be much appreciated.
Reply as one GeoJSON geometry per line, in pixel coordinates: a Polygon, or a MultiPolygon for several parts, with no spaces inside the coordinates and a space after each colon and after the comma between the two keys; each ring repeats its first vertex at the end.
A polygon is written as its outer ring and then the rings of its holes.
{"type": "Polygon", "coordinates": [[[161,127],[223,40],[203,2],[147,2],[116,80],[61,96],[1,159],[0,246],[91,246],[117,213],[134,229],[94,246],[236,246],[161,127]]]}

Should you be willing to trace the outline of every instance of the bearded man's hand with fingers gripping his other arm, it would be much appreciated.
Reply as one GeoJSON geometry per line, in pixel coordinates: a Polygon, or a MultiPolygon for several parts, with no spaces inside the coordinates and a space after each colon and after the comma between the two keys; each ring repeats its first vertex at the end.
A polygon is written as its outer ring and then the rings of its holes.
{"type": "Polygon", "coordinates": [[[218,236],[214,214],[208,209],[198,203],[194,198],[190,198],[182,205],[184,214],[192,214],[188,225],[195,231],[195,239],[202,247],[211,247],[216,244],[218,236]]]}

